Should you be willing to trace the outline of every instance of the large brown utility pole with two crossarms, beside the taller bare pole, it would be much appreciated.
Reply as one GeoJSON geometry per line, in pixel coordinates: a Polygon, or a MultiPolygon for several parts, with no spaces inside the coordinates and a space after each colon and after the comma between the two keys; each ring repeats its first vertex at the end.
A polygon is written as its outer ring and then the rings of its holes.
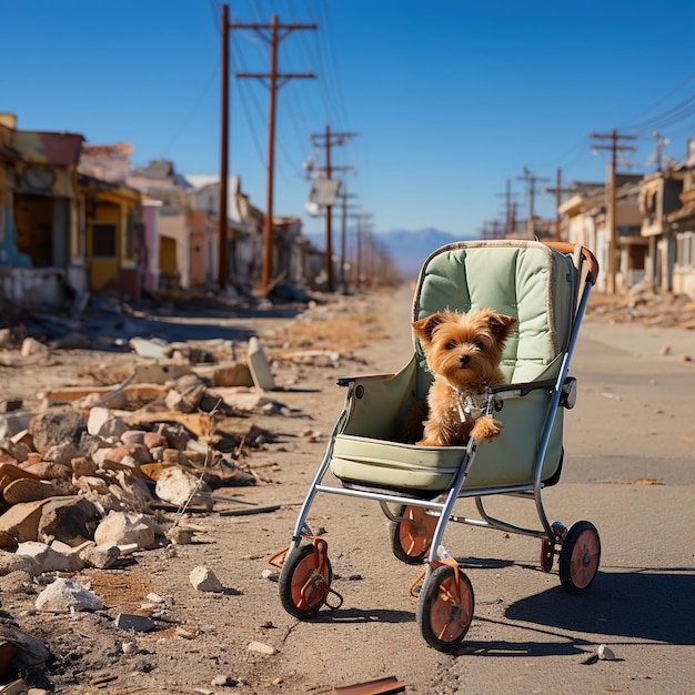
{"type": "MultiPolygon", "coordinates": [[[[224,6],[226,8],[226,6],[224,6]]],[[[290,33],[296,29],[316,29],[318,24],[281,24],[278,16],[273,14],[270,24],[242,24],[225,23],[222,28],[226,33],[228,29],[253,29],[264,41],[270,43],[270,72],[238,72],[238,78],[254,78],[268,81],[270,91],[270,111],[268,127],[268,197],[265,202],[265,220],[263,226],[263,266],[261,272],[261,292],[266,294],[270,288],[270,276],[273,262],[273,181],[275,167],[275,104],[278,99],[278,90],[295,78],[314,78],[313,72],[292,73],[278,72],[278,46],[290,33]],[[270,30],[270,34],[264,32],[270,30]]]]}

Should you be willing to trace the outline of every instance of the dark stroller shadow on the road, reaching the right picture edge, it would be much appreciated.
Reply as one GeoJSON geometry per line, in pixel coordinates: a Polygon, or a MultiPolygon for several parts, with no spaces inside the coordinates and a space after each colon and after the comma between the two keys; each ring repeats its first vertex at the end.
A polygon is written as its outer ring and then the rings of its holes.
{"type": "Polygon", "coordinates": [[[515,602],[505,616],[573,633],[695,645],[694,588],[689,567],[600,572],[586,594],[555,586],[515,602]]]}

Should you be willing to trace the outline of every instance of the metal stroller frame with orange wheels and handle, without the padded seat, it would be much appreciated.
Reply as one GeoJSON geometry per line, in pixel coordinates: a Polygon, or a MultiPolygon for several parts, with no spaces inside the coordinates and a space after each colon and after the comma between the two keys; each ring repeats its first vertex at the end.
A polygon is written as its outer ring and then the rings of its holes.
{"type": "MultiPolygon", "coordinates": [[[[571,528],[557,521],[551,523],[543,505],[543,490],[546,485],[555,484],[560,479],[564,452],[561,451],[557,467],[551,471],[550,476],[544,463],[554,436],[558,410],[561,407],[570,410],[574,406],[576,380],[568,376],[570,362],[578,338],[591,288],[596,282],[598,264],[595,256],[586,248],[570,243],[550,242],[541,244],[540,242],[510,241],[506,244],[511,244],[511,246],[516,244],[523,250],[526,248],[545,248],[546,253],[547,248],[550,248],[553,254],[571,256],[576,269],[577,283],[574,305],[572,306],[573,316],[570,321],[566,345],[558,355],[562,359],[556,376],[551,380],[542,379],[526,383],[503,384],[490,389],[487,393],[488,412],[492,412],[493,409],[501,410],[506,401],[517,399],[523,401],[534,392],[542,392],[546,394],[544,397],[550,397],[543,431],[533,461],[532,480],[518,484],[464,487],[481,445],[480,441],[470,439],[462,447],[442,447],[457,450],[454,452],[457,456],[456,471],[447,488],[434,490],[432,494],[427,494],[426,487],[409,491],[403,490],[400,485],[389,483],[374,484],[373,481],[369,481],[362,484],[359,480],[341,479],[338,474],[338,477],[342,480],[341,486],[325,484],[323,479],[334,459],[336,437],[344,430],[350,416],[352,400],[361,397],[361,390],[363,392],[370,381],[389,380],[393,375],[339,379],[338,384],[348,389],[345,407],[335,423],[323,460],[301,506],[290,546],[271,558],[273,564],[282,567],[279,587],[283,607],[295,617],[308,618],[323,604],[329,605],[328,596],[330,593],[338,595],[330,587],[332,570],[328,560],[326,543],[316,538],[306,523],[312,503],[319,493],[379,502],[382,512],[391,521],[392,547],[396,557],[407,564],[425,562],[425,570],[411,587],[411,595],[419,598],[417,623],[422,635],[431,646],[439,651],[451,651],[461,643],[472,622],[474,611],[471,582],[442,543],[449,522],[541,540],[542,570],[551,572],[557,555],[561,584],[568,593],[583,593],[595,578],[601,556],[601,542],[596,528],[586,521],[576,522],[571,528]],[[562,354],[563,352],[564,354],[562,354]],[[483,497],[496,494],[533,500],[541,527],[526,528],[491,516],[485,510],[483,497]],[[454,515],[454,505],[457,500],[469,497],[474,498],[480,517],[454,515]],[[390,505],[397,505],[396,512],[393,512],[390,505]],[[280,556],[280,562],[275,562],[280,556]],[[415,585],[420,580],[422,580],[422,586],[416,592],[415,585]]],[[[506,244],[505,242],[488,242],[488,245],[504,248],[506,244]]],[[[485,242],[475,242],[474,245],[480,248],[485,245],[485,242]]],[[[423,265],[421,282],[430,260],[450,249],[463,249],[465,252],[466,242],[449,244],[431,254],[423,265]]],[[[414,303],[415,308],[416,302],[414,303]]],[[[562,446],[562,442],[560,445],[562,446]]],[[[495,446],[495,443],[486,446],[495,446]]],[[[441,487],[441,485],[439,486],[441,487]]],[[[340,603],[342,603],[342,598],[340,603]]]]}

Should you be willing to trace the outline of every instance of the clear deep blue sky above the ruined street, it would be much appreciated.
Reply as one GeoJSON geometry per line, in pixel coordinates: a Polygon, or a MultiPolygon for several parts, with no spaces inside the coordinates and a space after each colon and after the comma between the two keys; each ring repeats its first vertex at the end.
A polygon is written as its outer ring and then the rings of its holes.
{"type": "MultiPolygon", "coordinates": [[[[133,165],[170,159],[181,173],[220,162],[221,0],[2,2],[0,111],[22,130],[134,145],[133,165]]],[[[278,93],[276,214],[305,231],[311,133],[357,133],[332,163],[376,232],[434,226],[475,235],[502,219],[507,179],[527,214],[528,168],[555,184],[602,181],[592,132],[635,134],[633,172],[654,152],[683,160],[695,135],[693,0],[235,0],[231,21],[316,23],[280,43],[282,72],[313,71],[278,93]]],[[[236,72],[268,72],[268,43],[231,40],[230,173],[265,207],[269,91],[236,72]]],[[[607,141],[606,141],[607,143],[607,141]]],[[[323,165],[323,151],[315,163],[323,165]]],[[[624,170],[624,169],[623,169],[624,170]]],[[[536,197],[552,216],[553,197],[536,197]]]]}

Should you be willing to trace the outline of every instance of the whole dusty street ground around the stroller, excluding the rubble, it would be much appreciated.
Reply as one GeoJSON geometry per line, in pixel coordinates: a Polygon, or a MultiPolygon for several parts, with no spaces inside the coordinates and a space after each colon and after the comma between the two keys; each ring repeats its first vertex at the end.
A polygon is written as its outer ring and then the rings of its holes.
{"type": "MultiPolygon", "coordinates": [[[[276,508],[236,516],[222,512],[239,504],[215,503],[211,513],[179,520],[194,530],[192,543],[162,542],[117,568],[72,575],[103,601],[102,611],[40,613],[36,597],[52,576],[0,577],[0,622],[50,651],[48,662],[13,677],[48,692],[112,695],[329,693],[385,676],[395,676],[406,693],[442,695],[689,693],[695,332],[673,328],[677,321],[661,328],[654,316],[663,319],[664,311],[625,320],[625,306],[611,313],[596,302],[577,348],[580,404],[565,442],[571,465],[550,504],[567,524],[588,518],[600,527],[604,560],[588,595],[566,595],[556,566],[540,572],[533,541],[452,531],[452,550],[475,587],[476,612],[462,648],[439,653],[423,642],[407,591],[420,568],[393,557],[379,505],[325,495],[316,497],[308,521],[329,543],[333,586],[344,604],[309,622],[283,611],[268,558],[289,544],[324,454],[344,397],[336,379],[405,364],[412,354],[410,301],[403,288],[326,299],[294,318],[275,312],[211,320],[203,312],[180,319],[191,334],[216,328],[260,336],[278,384],[272,397],[290,414],[252,413],[226,423],[240,430],[253,423],[272,437],[243,456],[259,484],[215,492],[276,508]],[[194,590],[190,574],[199,566],[211,568],[223,591],[194,590]],[[119,628],[119,613],[150,615],[157,627],[119,628]],[[597,658],[601,644],[615,661],[597,658]]],[[[683,306],[675,313],[682,323],[688,318],[683,306]]],[[[33,406],[50,389],[119,383],[134,359],[94,350],[56,350],[36,363],[4,359],[2,397],[33,406]]],[[[493,512],[534,523],[533,510],[508,497],[493,512]]],[[[160,513],[167,523],[174,516],[160,513]]]]}

